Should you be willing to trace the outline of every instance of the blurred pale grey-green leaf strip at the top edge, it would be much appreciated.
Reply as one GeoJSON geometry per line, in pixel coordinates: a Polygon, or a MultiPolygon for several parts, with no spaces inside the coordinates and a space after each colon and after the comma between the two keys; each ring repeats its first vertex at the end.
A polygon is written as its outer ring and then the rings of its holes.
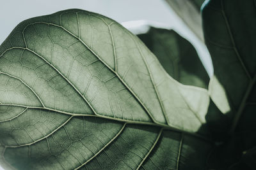
{"type": "Polygon", "coordinates": [[[166,0],[173,11],[188,25],[195,35],[204,41],[200,6],[203,0],[166,0]]]}

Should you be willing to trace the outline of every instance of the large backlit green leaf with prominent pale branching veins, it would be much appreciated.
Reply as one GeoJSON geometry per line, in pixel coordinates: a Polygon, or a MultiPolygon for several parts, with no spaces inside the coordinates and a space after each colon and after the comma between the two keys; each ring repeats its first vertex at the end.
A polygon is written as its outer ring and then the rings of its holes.
{"type": "Polygon", "coordinates": [[[205,166],[212,143],[195,132],[209,134],[203,126],[207,90],[173,80],[115,21],[83,10],[31,18],[13,30],[0,53],[1,159],[7,164],[205,166]]]}

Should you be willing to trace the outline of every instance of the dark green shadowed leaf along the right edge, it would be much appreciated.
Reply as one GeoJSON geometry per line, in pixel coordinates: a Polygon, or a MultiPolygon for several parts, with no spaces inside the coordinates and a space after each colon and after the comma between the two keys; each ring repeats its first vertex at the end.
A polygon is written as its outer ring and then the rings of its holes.
{"type": "Polygon", "coordinates": [[[205,41],[212,55],[215,79],[225,92],[212,88],[213,99],[225,93],[236,127],[239,117],[255,110],[256,50],[252,47],[256,37],[253,25],[256,10],[253,1],[210,1],[203,10],[205,41]],[[227,8],[228,6],[228,8],[227,8]],[[244,25],[250,25],[245,27],[244,25]],[[213,32],[214,31],[214,32],[213,32]],[[247,109],[248,108],[248,109],[247,109]]]}

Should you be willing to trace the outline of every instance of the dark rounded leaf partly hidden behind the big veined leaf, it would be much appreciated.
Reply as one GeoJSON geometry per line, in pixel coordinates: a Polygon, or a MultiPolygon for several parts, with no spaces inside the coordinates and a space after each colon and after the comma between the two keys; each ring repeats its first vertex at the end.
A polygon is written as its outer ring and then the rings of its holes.
{"type": "Polygon", "coordinates": [[[208,88],[209,76],[195,48],[177,32],[150,27],[147,33],[137,36],[172,78],[184,85],[208,88]]]}

